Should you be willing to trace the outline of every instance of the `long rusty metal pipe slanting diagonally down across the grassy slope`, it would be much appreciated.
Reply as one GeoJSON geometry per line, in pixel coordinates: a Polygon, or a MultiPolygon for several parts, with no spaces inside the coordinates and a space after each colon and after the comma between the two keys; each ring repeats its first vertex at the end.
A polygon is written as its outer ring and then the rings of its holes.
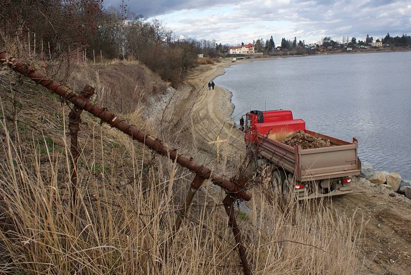
{"type": "Polygon", "coordinates": [[[5,51],[0,51],[0,63],[2,65],[9,66],[14,71],[26,75],[34,82],[60,95],[61,97],[63,97],[63,99],[99,117],[103,122],[106,122],[112,127],[115,127],[125,134],[131,136],[132,139],[143,143],[147,147],[155,150],[157,153],[167,156],[171,160],[176,161],[181,166],[188,168],[192,172],[201,176],[201,178],[210,179],[214,184],[230,192],[236,198],[246,201],[249,201],[251,199],[251,194],[247,193],[244,187],[239,186],[235,182],[223,179],[222,176],[215,174],[207,167],[196,163],[193,159],[178,154],[177,149],[166,146],[161,140],[154,139],[152,136],[145,134],[143,131],[137,129],[137,127],[123,121],[119,116],[107,111],[105,108],[97,104],[90,103],[83,96],[74,93],[65,85],[53,81],[50,77],[44,75],[40,71],[33,69],[27,64],[24,64],[20,60],[17,60],[14,57],[9,57],[5,51]]]}

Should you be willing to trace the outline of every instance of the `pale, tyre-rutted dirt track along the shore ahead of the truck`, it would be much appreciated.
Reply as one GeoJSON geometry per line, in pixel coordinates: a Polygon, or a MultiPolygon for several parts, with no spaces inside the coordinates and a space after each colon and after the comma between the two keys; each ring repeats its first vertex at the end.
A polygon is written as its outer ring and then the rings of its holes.
{"type": "Polygon", "coordinates": [[[174,117],[186,119],[190,116],[193,129],[203,139],[201,147],[215,157],[217,139],[227,140],[220,143],[222,158],[240,158],[245,155],[244,134],[234,126],[231,113],[231,92],[215,86],[209,90],[207,84],[216,76],[223,74],[223,68],[230,66],[229,61],[214,65],[200,65],[186,77],[174,99],[174,117]],[[180,113],[178,113],[180,112],[180,113]]]}

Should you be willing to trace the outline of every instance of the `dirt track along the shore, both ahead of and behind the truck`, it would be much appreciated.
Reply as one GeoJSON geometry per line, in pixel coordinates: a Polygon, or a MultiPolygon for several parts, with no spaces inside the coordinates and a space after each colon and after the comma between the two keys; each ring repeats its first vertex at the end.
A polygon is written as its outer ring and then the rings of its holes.
{"type": "MultiPolygon", "coordinates": [[[[178,90],[177,110],[191,110],[195,132],[206,143],[228,139],[224,143],[228,154],[245,155],[244,135],[236,129],[230,116],[231,93],[216,86],[208,90],[207,83],[224,73],[229,62],[201,65],[178,90]]],[[[180,114],[181,115],[181,114],[180,114]]],[[[204,147],[210,155],[215,147],[204,147]]],[[[362,178],[354,179],[354,192],[334,197],[327,202],[336,214],[345,212],[354,217],[357,228],[363,224],[363,274],[411,274],[411,200],[401,195],[389,197],[387,190],[370,187],[362,178]],[[356,213],[355,215],[353,215],[356,213]]]]}

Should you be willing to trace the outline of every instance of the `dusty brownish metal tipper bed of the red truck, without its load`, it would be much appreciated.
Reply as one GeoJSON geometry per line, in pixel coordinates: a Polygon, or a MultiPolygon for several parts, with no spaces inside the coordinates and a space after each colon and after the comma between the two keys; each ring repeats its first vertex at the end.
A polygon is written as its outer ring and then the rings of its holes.
{"type": "Polygon", "coordinates": [[[316,138],[328,139],[333,146],[314,149],[302,149],[300,146],[293,148],[258,134],[258,154],[294,173],[296,180],[300,182],[360,174],[361,163],[357,154],[357,139],[353,138],[350,143],[307,129],[303,131],[316,138]]]}

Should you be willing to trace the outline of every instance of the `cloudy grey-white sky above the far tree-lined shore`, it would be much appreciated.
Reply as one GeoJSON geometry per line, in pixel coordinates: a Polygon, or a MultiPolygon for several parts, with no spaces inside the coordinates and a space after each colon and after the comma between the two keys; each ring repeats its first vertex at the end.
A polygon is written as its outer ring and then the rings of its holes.
{"type": "MultiPolygon", "coordinates": [[[[105,0],[119,6],[121,0],[105,0]]],[[[177,35],[237,45],[282,37],[319,41],[324,36],[363,40],[411,34],[411,0],[125,0],[128,10],[160,19],[177,35]]]]}

